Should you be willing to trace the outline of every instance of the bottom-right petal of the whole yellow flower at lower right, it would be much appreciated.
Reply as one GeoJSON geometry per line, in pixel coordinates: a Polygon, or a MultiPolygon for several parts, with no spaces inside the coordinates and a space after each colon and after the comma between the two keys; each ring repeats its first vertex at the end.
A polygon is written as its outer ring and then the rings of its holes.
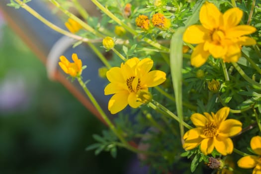
{"type": "Polygon", "coordinates": [[[217,136],[215,138],[214,144],[216,150],[224,156],[233,152],[234,145],[230,138],[217,136]]]}

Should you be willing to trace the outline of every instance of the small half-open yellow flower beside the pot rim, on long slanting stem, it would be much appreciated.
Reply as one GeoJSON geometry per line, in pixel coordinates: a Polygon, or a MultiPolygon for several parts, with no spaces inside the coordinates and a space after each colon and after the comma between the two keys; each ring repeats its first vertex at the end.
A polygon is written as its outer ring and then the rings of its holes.
{"type": "Polygon", "coordinates": [[[72,55],[72,59],[74,63],[69,62],[65,56],[61,56],[59,65],[66,74],[76,77],[82,73],[82,61],[78,58],[76,53],[72,55]]]}

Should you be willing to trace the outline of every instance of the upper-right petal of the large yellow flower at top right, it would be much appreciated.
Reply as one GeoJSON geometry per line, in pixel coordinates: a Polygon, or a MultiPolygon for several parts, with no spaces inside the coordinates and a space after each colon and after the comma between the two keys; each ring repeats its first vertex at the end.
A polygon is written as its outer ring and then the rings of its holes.
{"type": "Polygon", "coordinates": [[[238,7],[228,9],[224,15],[224,29],[229,29],[239,24],[243,16],[243,11],[238,7]]]}

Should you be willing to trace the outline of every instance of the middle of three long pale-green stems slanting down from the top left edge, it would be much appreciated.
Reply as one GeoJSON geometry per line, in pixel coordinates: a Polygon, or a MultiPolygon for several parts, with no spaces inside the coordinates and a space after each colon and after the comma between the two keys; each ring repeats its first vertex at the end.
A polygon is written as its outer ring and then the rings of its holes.
{"type": "Polygon", "coordinates": [[[81,20],[79,17],[77,17],[76,15],[72,14],[70,11],[66,10],[65,8],[63,8],[59,2],[57,2],[56,0],[49,0],[51,1],[51,3],[53,3],[56,7],[58,7],[61,11],[63,11],[68,17],[72,18],[73,20],[77,21],[80,25],[82,25],[87,31],[93,33],[95,36],[97,37],[101,37],[104,38],[105,36],[99,32],[97,32],[94,28],[92,28],[91,26],[89,26],[86,22],[84,22],[83,20],[81,20]]]}

